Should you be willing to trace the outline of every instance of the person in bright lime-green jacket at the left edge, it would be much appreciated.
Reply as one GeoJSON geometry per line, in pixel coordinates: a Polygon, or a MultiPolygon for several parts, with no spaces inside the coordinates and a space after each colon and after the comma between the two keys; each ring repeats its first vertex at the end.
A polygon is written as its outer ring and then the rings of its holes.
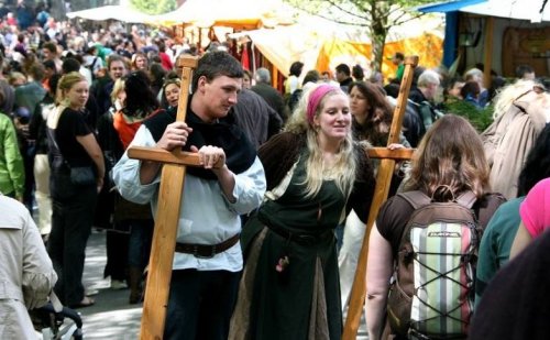
{"type": "MultiPolygon", "coordinates": [[[[3,92],[0,90],[1,102],[3,92]]],[[[0,112],[0,193],[22,201],[24,188],[25,171],[15,127],[9,116],[0,112]]]]}

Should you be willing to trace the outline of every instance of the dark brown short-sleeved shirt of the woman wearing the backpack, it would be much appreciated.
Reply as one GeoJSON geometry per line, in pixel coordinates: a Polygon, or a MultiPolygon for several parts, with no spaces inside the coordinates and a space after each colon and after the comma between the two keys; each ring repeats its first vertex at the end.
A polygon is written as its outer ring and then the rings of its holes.
{"type": "MultiPolygon", "coordinates": [[[[474,204],[472,208],[483,229],[496,209],[505,201],[506,199],[502,195],[487,194],[474,204]]],[[[397,259],[403,232],[414,211],[413,206],[400,196],[389,198],[378,210],[376,228],[378,228],[381,235],[392,244],[394,259],[397,259]]]]}

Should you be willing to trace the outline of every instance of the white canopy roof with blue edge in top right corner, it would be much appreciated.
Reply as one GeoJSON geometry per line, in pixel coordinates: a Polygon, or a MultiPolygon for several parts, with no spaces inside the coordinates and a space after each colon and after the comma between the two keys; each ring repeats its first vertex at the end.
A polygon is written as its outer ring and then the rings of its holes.
{"type": "Polygon", "coordinates": [[[542,13],[540,13],[543,2],[544,0],[488,0],[487,2],[463,7],[460,11],[531,22],[550,21],[550,4],[546,6],[542,13]]]}

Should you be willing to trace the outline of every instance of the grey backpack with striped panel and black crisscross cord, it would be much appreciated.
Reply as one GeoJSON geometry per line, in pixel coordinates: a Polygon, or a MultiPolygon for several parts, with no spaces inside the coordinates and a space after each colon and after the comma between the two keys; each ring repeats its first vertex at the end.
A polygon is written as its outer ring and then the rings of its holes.
{"type": "Polygon", "coordinates": [[[481,228],[465,191],[450,202],[421,191],[398,196],[414,208],[388,297],[392,330],[410,339],[465,339],[474,307],[481,228]]]}

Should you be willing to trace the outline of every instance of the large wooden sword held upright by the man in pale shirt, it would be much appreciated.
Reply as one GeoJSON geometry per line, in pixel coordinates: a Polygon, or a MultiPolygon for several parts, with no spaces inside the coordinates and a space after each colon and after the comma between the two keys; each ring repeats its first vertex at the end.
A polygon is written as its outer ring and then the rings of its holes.
{"type": "MultiPolygon", "coordinates": [[[[177,61],[177,66],[183,67],[177,121],[185,121],[189,85],[197,63],[198,58],[190,56],[177,61]]],[[[156,340],[164,334],[186,166],[200,166],[200,162],[197,153],[183,152],[182,147],[168,152],[158,147],[132,146],[128,150],[128,156],[164,164],[141,320],[141,339],[156,340]]]]}

